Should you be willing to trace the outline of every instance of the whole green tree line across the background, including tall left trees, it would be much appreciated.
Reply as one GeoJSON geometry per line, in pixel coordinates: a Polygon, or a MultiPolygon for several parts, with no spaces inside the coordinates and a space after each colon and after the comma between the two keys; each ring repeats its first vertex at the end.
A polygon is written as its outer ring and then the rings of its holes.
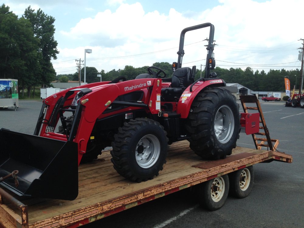
{"type": "MultiPolygon", "coordinates": [[[[24,96],[25,89],[27,96],[35,87],[51,85],[51,81],[60,79],[78,81],[78,73],[61,74],[56,76],[56,72],[51,63],[52,59],[57,59],[57,41],[54,39],[54,22],[52,16],[48,16],[41,9],[36,12],[29,6],[24,14],[18,18],[9,7],[2,4],[0,7],[0,78],[13,78],[19,81],[19,93],[24,96]]],[[[172,67],[168,62],[156,62],[153,66],[159,67],[166,72],[167,77],[172,75],[172,67]]],[[[134,79],[138,74],[147,73],[147,68],[133,67],[127,65],[124,69],[113,69],[105,72],[98,72],[95,67],[86,67],[86,82],[112,81],[114,78],[123,76],[127,80],[134,79]],[[101,74],[102,78],[98,78],[101,74]]],[[[199,67],[198,67],[199,68],[199,67]]],[[[253,71],[247,67],[224,69],[216,67],[214,69],[217,76],[226,83],[239,83],[253,91],[285,91],[284,77],[288,76],[293,85],[299,88],[300,71],[296,70],[264,70],[253,71]]],[[[196,70],[195,79],[204,75],[204,71],[196,70]]],[[[84,68],[81,69],[82,81],[84,68]]],[[[35,91],[34,91],[35,92],[35,91]]]]}

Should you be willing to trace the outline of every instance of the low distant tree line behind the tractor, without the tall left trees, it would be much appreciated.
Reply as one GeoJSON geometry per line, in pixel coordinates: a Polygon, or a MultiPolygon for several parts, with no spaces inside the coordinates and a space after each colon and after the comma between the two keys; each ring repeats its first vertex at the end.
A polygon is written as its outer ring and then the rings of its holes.
{"type": "MultiPolygon", "coordinates": [[[[153,66],[159,67],[166,72],[166,77],[170,78],[172,76],[172,67],[168,62],[156,62],[153,66]]],[[[86,67],[86,82],[93,83],[100,81],[100,78],[97,77],[97,74],[102,75],[102,81],[112,81],[114,78],[123,76],[127,80],[134,79],[137,75],[147,73],[147,68],[149,66],[144,67],[133,67],[133,66],[125,66],[124,69],[113,69],[112,71],[105,72],[97,71],[95,67],[86,67]]],[[[274,92],[284,92],[285,84],[284,77],[288,77],[291,84],[291,90],[294,85],[299,89],[300,86],[300,70],[270,70],[266,73],[264,70],[262,71],[253,71],[252,68],[247,67],[245,70],[241,68],[230,68],[224,69],[220,67],[216,67],[213,72],[216,72],[217,77],[222,78],[226,83],[239,83],[253,91],[274,91],[274,92]]],[[[81,78],[84,77],[84,69],[81,69],[81,78]]],[[[196,69],[195,80],[200,78],[200,76],[204,77],[205,70],[201,72],[200,69],[196,69]]],[[[78,73],[74,74],[61,74],[57,75],[57,79],[62,82],[66,82],[67,80],[78,81],[78,73]]]]}

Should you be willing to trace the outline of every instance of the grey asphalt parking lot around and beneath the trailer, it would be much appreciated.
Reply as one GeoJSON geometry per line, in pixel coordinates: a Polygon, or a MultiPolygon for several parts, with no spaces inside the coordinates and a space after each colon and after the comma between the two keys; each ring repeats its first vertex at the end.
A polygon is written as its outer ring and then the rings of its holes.
{"type": "MultiPolygon", "coordinates": [[[[41,101],[20,100],[16,112],[0,110],[0,128],[33,134],[40,107],[41,101]]],[[[293,162],[254,165],[247,198],[228,196],[221,209],[210,212],[185,189],[85,227],[304,227],[304,109],[263,101],[261,107],[271,138],[280,140],[277,150],[292,154],[293,162]]],[[[254,148],[252,137],[244,133],[237,145],[254,148]]]]}

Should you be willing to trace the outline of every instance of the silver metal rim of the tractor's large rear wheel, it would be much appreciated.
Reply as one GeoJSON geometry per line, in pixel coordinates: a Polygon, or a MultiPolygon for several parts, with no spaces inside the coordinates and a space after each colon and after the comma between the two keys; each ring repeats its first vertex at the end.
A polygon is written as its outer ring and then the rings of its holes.
{"type": "Polygon", "coordinates": [[[214,132],[220,143],[228,142],[233,136],[234,117],[231,108],[227,105],[221,106],[215,115],[214,132]]]}

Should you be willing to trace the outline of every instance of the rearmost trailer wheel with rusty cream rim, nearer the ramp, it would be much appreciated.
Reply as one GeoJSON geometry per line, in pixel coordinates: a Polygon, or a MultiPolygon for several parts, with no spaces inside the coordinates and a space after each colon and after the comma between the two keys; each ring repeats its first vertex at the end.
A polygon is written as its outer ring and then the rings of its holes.
{"type": "Polygon", "coordinates": [[[253,166],[234,171],[229,174],[229,192],[237,198],[245,198],[252,190],[254,181],[253,166]]]}

